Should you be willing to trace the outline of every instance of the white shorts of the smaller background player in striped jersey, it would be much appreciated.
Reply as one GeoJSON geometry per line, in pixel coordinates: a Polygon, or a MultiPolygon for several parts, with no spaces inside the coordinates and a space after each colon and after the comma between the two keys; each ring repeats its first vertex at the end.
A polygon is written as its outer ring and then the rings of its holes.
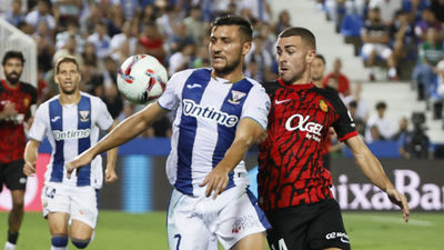
{"type": "Polygon", "coordinates": [[[64,212],[70,220],[78,220],[95,228],[99,216],[98,193],[93,187],[71,187],[50,182],[42,189],[43,217],[50,212],[64,212]]]}

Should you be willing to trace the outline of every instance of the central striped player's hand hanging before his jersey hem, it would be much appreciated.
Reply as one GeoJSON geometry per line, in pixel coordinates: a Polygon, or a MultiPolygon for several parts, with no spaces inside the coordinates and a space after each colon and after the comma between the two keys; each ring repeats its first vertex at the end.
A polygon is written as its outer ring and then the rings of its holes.
{"type": "Polygon", "coordinates": [[[205,177],[205,180],[199,187],[206,186],[205,196],[210,197],[213,193],[213,199],[215,199],[223,190],[225,190],[229,183],[229,174],[221,166],[216,166],[211,172],[205,177]]]}

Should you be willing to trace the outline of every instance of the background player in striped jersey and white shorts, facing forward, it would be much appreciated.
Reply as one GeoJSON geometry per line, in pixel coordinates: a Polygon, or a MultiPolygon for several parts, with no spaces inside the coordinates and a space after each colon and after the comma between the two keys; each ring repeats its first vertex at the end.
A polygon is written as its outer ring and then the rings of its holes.
{"type": "MultiPolygon", "coordinates": [[[[42,103],[36,113],[24,150],[27,176],[36,172],[38,149],[46,137],[52,147],[41,193],[43,216],[48,219],[51,250],[65,250],[68,232],[79,249],[90,242],[98,218],[98,196],[102,187],[100,156],[68,179],[64,163],[97,143],[100,130],[111,130],[114,122],[102,100],[79,90],[79,64],[72,57],[60,58],[54,66],[60,94],[42,103]],[[69,221],[71,221],[70,229],[69,221]]],[[[117,148],[108,152],[105,180],[117,180],[117,148]]]]}

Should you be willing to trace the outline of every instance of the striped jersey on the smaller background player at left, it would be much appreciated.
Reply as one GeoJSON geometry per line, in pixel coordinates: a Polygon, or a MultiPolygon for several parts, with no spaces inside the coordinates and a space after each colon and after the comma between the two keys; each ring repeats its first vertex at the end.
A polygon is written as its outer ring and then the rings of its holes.
{"type": "Polygon", "coordinates": [[[112,117],[100,98],[81,93],[77,104],[62,106],[59,96],[42,103],[36,112],[29,138],[42,141],[48,137],[52,147],[51,161],[44,173],[44,181],[62,182],[69,186],[102,187],[102,159],[97,156],[90,164],[67,178],[64,163],[73,160],[84,150],[95,144],[101,130],[112,126],[112,117]]]}

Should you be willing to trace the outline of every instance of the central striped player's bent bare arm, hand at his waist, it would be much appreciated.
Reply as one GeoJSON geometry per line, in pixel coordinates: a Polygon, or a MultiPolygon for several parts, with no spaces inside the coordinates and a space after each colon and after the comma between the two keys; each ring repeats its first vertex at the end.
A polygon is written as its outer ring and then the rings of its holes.
{"type": "Polygon", "coordinates": [[[250,147],[258,143],[262,137],[263,129],[256,121],[250,118],[244,118],[240,121],[233,143],[223,159],[200,184],[200,187],[206,184],[206,197],[211,196],[214,190],[213,199],[215,199],[218,194],[225,190],[229,183],[228,174],[241,162],[250,147]]]}

